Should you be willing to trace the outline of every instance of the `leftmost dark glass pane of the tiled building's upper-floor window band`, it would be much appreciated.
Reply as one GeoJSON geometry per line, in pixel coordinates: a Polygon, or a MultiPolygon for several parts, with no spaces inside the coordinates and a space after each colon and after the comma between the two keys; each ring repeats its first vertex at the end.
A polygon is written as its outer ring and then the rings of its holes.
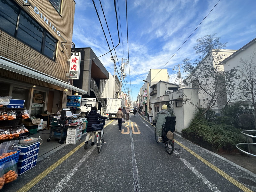
{"type": "Polygon", "coordinates": [[[0,1],[0,28],[11,34],[15,35],[17,19],[20,8],[8,0],[0,1]]]}

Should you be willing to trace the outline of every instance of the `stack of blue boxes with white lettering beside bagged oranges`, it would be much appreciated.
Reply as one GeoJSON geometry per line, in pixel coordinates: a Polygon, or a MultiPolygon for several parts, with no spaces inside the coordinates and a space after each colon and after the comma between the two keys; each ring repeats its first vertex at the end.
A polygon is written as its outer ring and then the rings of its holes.
{"type": "Polygon", "coordinates": [[[28,146],[18,145],[18,151],[20,151],[19,161],[17,163],[19,175],[36,166],[39,145],[40,142],[28,146]]]}

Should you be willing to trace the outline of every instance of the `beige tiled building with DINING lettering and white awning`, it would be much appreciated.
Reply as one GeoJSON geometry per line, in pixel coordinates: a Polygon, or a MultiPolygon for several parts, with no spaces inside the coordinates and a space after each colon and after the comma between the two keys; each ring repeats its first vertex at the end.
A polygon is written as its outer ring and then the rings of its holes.
{"type": "Polygon", "coordinates": [[[67,76],[75,4],[74,0],[0,1],[0,96],[25,100],[32,115],[66,108],[72,90],[87,94],[67,76]]]}

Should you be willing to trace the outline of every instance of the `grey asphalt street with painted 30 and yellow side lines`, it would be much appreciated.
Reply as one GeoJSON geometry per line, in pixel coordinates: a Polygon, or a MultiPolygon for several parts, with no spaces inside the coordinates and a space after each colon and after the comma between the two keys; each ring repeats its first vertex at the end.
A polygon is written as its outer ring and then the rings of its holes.
{"type": "Polygon", "coordinates": [[[180,150],[167,154],[164,144],[154,139],[154,127],[142,116],[130,116],[122,131],[116,120],[107,123],[107,143],[100,153],[91,146],[85,150],[84,142],[67,145],[2,190],[256,192],[255,174],[177,134],[175,148],[180,150]]]}

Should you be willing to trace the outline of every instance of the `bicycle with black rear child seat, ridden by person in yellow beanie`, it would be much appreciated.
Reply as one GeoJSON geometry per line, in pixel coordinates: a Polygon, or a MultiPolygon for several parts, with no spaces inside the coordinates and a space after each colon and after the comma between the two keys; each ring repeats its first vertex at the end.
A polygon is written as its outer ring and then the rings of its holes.
{"type": "Polygon", "coordinates": [[[163,132],[162,138],[163,141],[158,141],[158,137],[156,136],[156,122],[152,121],[152,125],[155,127],[155,140],[157,143],[163,142],[165,150],[168,154],[172,154],[174,150],[174,140],[173,140],[173,132],[175,130],[175,121],[172,121],[173,117],[165,117],[166,122],[162,125],[163,132]],[[170,132],[169,132],[170,131],[170,132]]]}

